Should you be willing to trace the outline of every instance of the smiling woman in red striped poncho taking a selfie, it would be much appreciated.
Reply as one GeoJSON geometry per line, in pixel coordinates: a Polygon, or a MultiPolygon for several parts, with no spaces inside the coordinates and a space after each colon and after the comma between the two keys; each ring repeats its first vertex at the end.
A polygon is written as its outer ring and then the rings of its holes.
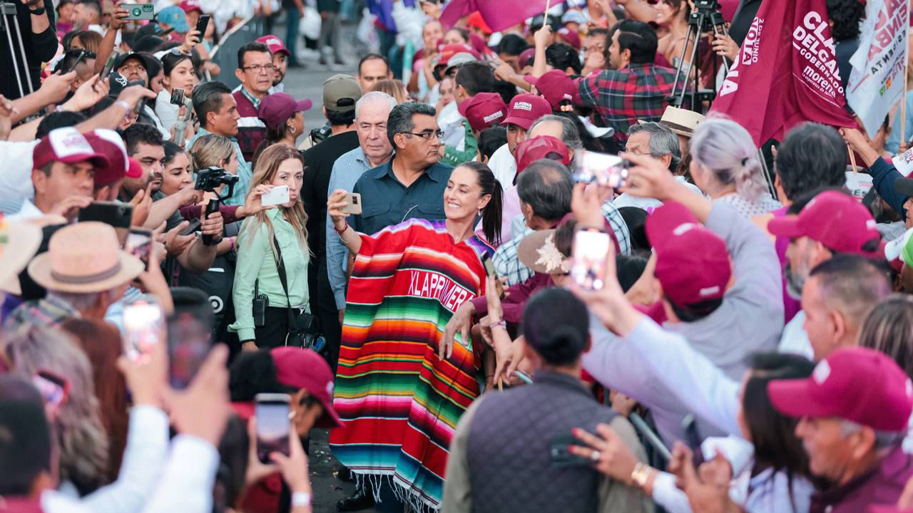
{"type": "Polygon", "coordinates": [[[460,165],[444,192],[446,220],[410,219],[373,236],[346,223],[344,194],[327,203],[357,255],[333,400],[343,426],[331,433],[331,449],[382,500],[392,491],[415,508],[438,508],[447,447],[478,396],[481,368],[477,344],[464,340],[441,358],[438,342],[456,308],[485,295],[480,258],[494,249],[473,227],[481,214],[485,238],[498,241],[501,186],[488,165],[460,165]]]}

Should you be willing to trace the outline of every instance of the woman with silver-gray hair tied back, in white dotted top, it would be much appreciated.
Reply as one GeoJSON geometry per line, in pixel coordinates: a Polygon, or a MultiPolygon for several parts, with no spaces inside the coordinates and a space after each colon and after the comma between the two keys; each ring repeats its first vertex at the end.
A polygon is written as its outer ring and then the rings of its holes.
{"type": "Polygon", "coordinates": [[[698,188],[713,201],[731,204],[743,217],[782,206],[767,190],[758,148],[739,123],[700,123],[691,139],[691,158],[691,178],[698,188]]]}

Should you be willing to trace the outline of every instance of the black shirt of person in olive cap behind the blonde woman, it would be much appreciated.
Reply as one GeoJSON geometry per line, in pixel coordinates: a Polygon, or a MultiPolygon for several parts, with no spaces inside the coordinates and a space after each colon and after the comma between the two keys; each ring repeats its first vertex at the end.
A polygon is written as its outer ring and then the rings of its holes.
{"type": "Polygon", "coordinates": [[[344,153],[352,152],[355,148],[358,148],[358,133],[345,131],[320,141],[320,144],[301,153],[305,166],[301,199],[308,213],[308,246],[318,260],[324,257],[327,248],[327,189],[330,187],[333,164],[344,153]]]}

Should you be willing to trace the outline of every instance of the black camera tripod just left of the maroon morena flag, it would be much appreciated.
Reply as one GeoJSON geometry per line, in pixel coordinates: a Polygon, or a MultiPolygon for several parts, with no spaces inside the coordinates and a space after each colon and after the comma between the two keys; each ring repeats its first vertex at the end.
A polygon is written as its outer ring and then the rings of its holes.
{"type": "MultiPolygon", "coordinates": [[[[700,68],[700,58],[698,56],[698,41],[701,34],[713,31],[713,35],[726,35],[726,24],[723,21],[723,15],[719,12],[719,2],[717,0],[697,0],[695,10],[687,20],[687,36],[685,37],[685,46],[682,47],[681,57],[678,58],[676,67],[676,79],[672,83],[672,94],[666,99],[669,105],[681,107],[685,102],[687,91],[687,75],[694,71],[694,89],[691,90],[691,110],[700,112],[700,102],[703,99],[712,100],[716,92],[710,90],[698,90],[698,71],[700,68]],[[691,45],[691,55],[685,60],[687,47],[691,45]],[[681,92],[678,91],[678,79],[681,79],[681,92]]],[[[723,69],[729,73],[729,63],[723,58],[723,69]]]]}

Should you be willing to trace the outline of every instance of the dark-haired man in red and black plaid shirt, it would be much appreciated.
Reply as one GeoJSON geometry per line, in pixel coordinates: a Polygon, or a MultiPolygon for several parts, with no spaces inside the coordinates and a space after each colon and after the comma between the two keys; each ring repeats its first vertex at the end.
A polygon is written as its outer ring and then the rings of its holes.
{"type": "Polygon", "coordinates": [[[658,121],[672,93],[675,69],[654,64],[656,32],[645,23],[624,20],[609,33],[609,69],[577,79],[574,102],[593,107],[598,124],[615,129],[624,142],[637,120],[658,121]]]}

